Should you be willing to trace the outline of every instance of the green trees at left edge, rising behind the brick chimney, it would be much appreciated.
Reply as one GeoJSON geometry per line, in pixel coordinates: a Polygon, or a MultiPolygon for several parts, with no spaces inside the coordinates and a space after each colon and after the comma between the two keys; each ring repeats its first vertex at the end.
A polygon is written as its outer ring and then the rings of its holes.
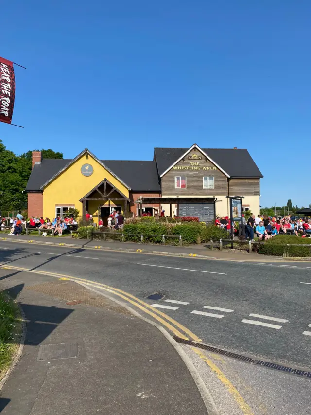
{"type": "MultiPolygon", "coordinates": [[[[41,150],[43,158],[62,159],[62,153],[41,150]]],[[[27,207],[25,187],[32,171],[32,151],[17,156],[0,140],[0,210],[20,210],[27,207]],[[23,192],[23,193],[22,193],[23,192]]]]}

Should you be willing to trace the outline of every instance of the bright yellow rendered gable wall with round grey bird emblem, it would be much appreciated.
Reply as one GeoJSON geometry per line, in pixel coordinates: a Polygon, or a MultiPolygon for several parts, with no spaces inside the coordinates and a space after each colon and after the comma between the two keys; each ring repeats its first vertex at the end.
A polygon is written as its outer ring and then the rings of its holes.
{"type": "MultiPolygon", "coordinates": [[[[104,169],[99,162],[91,156],[88,156],[88,159],[86,159],[86,155],[81,156],[45,187],[43,191],[43,217],[54,218],[56,205],[74,206],[76,209],[79,209],[80,216],[82,216],[82,203],[79,200],[105,178],[123,195],[127,198],[129,197],[128,189],[104,169]],[[92,165],[94,173],[91,176],[86,177],[82,175],[81,167],[83,164],[92,165]]],[[[89,213],[92,215],[96,211],[98,213],[100,204],[100,200],[89,201],[89,213]]],[[[108,205],[108,202],[106,205],[108,205]]],[[[98,218],[96,222],[98,222],[98,218]]]]}

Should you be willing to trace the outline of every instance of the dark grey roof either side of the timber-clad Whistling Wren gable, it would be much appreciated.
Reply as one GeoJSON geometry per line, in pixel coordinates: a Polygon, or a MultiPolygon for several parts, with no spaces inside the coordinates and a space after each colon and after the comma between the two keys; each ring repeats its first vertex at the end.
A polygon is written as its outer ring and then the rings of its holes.
{"type": "MultiPolygon", "coordinates": [[[[155,148],[159,176],[188,150],[189,148],[155,148]]],[[[246,149],[202,148],[202,150],[230,177],[263,177],[246,149]]]]}

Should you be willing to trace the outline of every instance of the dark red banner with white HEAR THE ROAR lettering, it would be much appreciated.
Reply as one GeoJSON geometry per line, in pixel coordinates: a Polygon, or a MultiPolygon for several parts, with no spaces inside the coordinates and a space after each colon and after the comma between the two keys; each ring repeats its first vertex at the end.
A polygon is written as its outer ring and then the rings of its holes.
{"type": "Polygon", "coordinates": [[[12,122],[15,99],[13,62],[0,57],[0,121],[12,122]]]}

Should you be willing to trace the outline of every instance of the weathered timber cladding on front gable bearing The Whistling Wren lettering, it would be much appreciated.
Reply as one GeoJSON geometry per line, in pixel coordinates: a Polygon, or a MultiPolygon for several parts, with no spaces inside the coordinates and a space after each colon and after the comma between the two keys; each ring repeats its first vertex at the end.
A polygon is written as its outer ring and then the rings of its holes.
{"type": "MultiPolygon", "coordinates": [[[[199,152],[197,152],[198,154],[199,152]]],[[[192,153],[189,153],[191,155],[192,153]]],[[[228,182],[225,174],[219,170],[206,157],[201,160],[189,160],[188,155],[175,164],[170,171],[162,177],[162,196],[200,196],[227,195],[228,182]],[[186,189],[175,189],[175,176],[186,176],[186,189]],[[203,177],[214,177],[214,189],[203,189],[203,177]]]]}

